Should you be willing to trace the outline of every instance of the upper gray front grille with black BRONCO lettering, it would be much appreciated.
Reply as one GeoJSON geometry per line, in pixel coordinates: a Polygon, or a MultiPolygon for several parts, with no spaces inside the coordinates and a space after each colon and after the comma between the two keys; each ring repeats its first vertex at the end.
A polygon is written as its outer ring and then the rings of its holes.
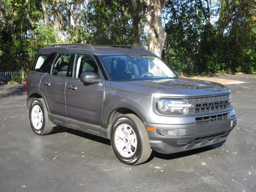
{"type": "Polygon", "coordinates": [[[231,104],[229,99],[229,94],[188,98],[187,103],[192,104],[192,107],[188,108],[188,113],[203,113],[230,108],[231,104]]]}

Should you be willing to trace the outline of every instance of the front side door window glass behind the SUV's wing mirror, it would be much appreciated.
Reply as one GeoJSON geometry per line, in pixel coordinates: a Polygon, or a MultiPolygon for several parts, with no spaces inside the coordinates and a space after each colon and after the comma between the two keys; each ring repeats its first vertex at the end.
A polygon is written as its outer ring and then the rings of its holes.
{"type": "Polygon", "coordinates": [[[94,72],[98,75],[98,66],[90,55],[78,54],[73,69],[73,77],[80,78],[83,72],[94,72]]]}

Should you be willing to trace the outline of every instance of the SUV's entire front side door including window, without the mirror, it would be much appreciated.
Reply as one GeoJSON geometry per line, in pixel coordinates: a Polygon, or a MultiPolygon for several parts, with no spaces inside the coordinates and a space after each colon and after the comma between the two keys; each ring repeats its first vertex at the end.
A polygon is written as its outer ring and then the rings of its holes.
{"type": "Polygon", "coordinates": [[[88,54],[76,54],[73,76],[66,82],[66,112],[68,118],[101,126],[105,81],[84,83],[82,72],[94,72],[102,79],[95,59],[88,54]]]}

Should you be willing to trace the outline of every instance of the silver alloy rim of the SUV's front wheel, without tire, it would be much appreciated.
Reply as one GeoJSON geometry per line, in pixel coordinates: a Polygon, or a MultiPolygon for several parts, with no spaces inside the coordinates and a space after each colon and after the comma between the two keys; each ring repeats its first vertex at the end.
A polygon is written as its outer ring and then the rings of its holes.
{"type": "Polygon", "coordinates": [[[137,148],[137,137],[131,126],[120,124],[115,130],[114,144],[119,154],[125,158],[134,155],[137,148]]]}

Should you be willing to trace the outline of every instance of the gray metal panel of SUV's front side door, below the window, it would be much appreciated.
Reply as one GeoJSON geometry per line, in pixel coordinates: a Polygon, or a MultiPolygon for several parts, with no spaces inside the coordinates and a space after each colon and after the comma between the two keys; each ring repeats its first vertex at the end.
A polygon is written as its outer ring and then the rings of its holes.
{"type": "Polygon", "coordinates": [[[89,84],[68,78],[65,90],[68,118],[102,126],[104,87],[104,80],[89,84]]]}

